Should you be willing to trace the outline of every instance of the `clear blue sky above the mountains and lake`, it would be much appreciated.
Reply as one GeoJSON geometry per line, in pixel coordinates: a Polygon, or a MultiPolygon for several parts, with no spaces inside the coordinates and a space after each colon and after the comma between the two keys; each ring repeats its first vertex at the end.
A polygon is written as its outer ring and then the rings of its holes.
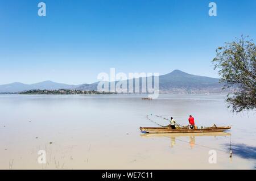
{"type": "Polygon", "coordinates": [[[0,84],[92,83],[110,68],[218,77],[215,49],[255,39],[255,12],[254,0],[0,0],[0,84]]]}

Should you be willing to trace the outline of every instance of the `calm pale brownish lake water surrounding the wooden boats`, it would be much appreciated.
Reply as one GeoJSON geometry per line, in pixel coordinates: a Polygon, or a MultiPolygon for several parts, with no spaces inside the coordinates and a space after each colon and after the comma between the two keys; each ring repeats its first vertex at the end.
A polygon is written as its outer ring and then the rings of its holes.
{"type": "Polygon", "coordinates": [[[255,111],[224,94],[0,95],[0,169],[255,169],[255,111]],[[142,134],[139,127],[232,125],[227,133],[142,134]],[[230,136],[231,135],[231,136],[230,136]],[[230,138],[233,157],[229,158],[230,138]],[[46,164],[38,151],[46,150],[46,164]],[[209,150],[217,151],[210,164],[209,150]]]}

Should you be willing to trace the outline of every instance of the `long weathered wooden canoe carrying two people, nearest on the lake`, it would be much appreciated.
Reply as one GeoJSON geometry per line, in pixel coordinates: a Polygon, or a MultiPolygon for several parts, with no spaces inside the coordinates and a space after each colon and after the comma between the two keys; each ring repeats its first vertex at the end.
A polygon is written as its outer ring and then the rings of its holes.
{"type": "Polygon", "coordinates": [[[212,133],[212,132],[224,132],[231,127],[208,127],[203,129],[188,129],[188,128],[177,128],[171,129],[169,127],[140,127],[144,133],[212,133]]]}

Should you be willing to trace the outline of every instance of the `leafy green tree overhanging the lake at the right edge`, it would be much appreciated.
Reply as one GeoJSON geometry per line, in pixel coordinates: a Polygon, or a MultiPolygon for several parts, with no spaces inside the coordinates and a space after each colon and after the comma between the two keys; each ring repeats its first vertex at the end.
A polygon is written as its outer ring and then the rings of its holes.
{"type": "Polygon", "coordinates": [[[225,43],[216,49],[214,70],[224,83],[223,89],[233,87],[226,101],[233,112],[254,110],[256,107],[256,46],[248,36],[225,43]]]}

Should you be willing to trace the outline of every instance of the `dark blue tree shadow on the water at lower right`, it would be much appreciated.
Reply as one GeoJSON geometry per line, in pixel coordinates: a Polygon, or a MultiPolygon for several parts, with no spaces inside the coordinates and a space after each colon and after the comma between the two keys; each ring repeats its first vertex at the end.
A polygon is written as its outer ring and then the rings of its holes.
{"type": "MultiPolygon", "coordinates": [[[[230,149],[229,144],[225,144],[226,149],[230,149]]],[[[255,159],[256,160],[256,146],[248,146],[245,144],[232,144],[232,152],[234,155],[238,155],[245,159],[255,159]]]]}

